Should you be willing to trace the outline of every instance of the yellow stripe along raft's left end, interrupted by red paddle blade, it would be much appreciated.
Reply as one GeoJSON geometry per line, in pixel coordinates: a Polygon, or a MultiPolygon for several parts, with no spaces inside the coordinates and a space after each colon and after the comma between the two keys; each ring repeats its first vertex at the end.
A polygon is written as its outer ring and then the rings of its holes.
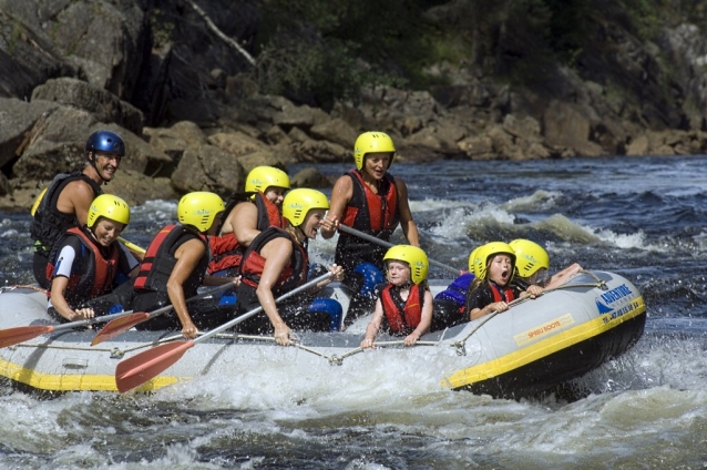
{"type": "MultiPolygon", "coordinates": [[[[0,359],[0,376],[39,390],[117,391],[117,388],[115,387],[115,377],[112,375],[41,374],[2,359],[0,359]]],[[[135,391],[158,390],[163,387],[176,384],[180,380],[187,379],[187,377],[155,377],[136,388],[135,391]]]]}

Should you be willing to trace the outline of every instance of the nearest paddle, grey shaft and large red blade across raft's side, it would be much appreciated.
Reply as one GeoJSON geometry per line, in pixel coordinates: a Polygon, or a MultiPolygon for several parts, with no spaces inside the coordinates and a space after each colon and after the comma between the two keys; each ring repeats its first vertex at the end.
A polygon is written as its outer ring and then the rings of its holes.
{"type": "MultiPolygon", "coordinates": [[[[296,289],[290,290],[287,294],[283,294],[275,299],[275,303],[285,300],[286,298],[307,290],[330,277],[331,273],[327,273],[319,277],[316,277],[310,282],[297,287],[296,289]]],[[[120,361],[117,364],[117,367],[115,368],[115,385],[117,386],[117,391],[123,394],[127,390],[143,385],[144,382],[156,377],[160,372],[180,360],[180,358],[184,356],[184,352],[186,352],[187,349],[189,349],[197,343],[217,335],[230,327],[234,327],[239,323],[243,323],[253,317],[254,315],[259,314],[260,311],[263,311],[263,307],[254,308],[253,310],[245,313],[217,328],[212,329],[211,331],[199,336],[196,339],[166,343],[164,345],[156,346],[152,349],[147,349],[146,351],[140,352],[133,357],[120,361]]]]}

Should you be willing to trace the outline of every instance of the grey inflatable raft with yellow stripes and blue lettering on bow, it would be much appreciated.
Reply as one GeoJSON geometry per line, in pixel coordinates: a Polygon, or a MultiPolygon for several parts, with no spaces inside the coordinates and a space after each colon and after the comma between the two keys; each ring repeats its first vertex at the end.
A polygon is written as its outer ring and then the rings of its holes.
{"type": "MultiPolygon", "coordinates": [[[[431,288],[439,292],[447,284],[432,280],[431,288]]],[[[6,290],[0,294],[0,329],[53,324],[45,307],[43,293],[6,290]]],[[[370,356],[365,359],[359,344],[368,319],[357,319],[346,331],[298,333],[290,347],[277,346],[268,336],[214,335],[135,390],[207,376],[257,389],[257,384],[244,384],[257,377],[254,370],[320,375],[335,374],[331,368],[337,366],[366,368],[370,356]]],[[[585,272],[502,314],[429,333],[413,347],[403,347],[401,338],[379,336],[377,357],[432,361],[432,384],[440,389],[518,399],[561,386],[622,355],[641,338],[645,319],[644,299],[631,282],[607,272],[585,272]]],[[[95,333],[66,329],[1,348],[0,377],[34,390],[116,391],[120,361],[181,339],[178,331],[131,329],[91,347],[95,333]]]]}

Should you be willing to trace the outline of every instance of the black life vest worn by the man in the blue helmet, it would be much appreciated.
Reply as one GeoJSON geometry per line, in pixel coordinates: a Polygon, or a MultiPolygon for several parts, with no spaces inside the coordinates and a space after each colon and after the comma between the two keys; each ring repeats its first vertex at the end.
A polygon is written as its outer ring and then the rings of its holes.
{"type": "Polygon", "coordinates": [[[54,255],[52,247],[55,247],[66,231],[69,228],[79,227],[76,214],[66,214],[57,208],[57,202],[63,188],[66,187],[69,183],[79,180],[86,182],[91,186],[93,197],[103,193],[101,186],[95,181],[81,172],[58,174],[49,184],[47,193],[44,193],[32,217],[30,234],[32,238],[40,242],[40,244],[34,244],[35,248],[48,253],[51,252],[50,259],[53,258],[54,255]]]}

